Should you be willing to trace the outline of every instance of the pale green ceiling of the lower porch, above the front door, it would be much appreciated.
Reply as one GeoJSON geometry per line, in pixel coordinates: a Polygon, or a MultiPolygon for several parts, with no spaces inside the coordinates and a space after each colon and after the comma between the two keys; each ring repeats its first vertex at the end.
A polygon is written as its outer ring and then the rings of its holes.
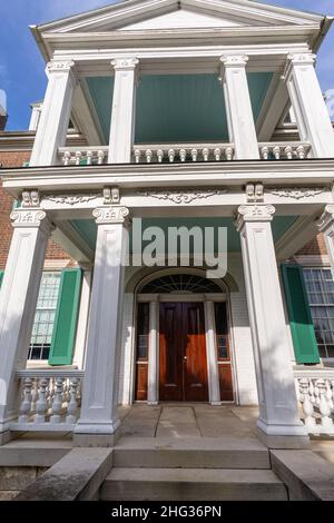
{"type": "MultiPolygon", "coordinates": [[[[274,241],[277,241],[281,236],[294,224],[297,216],[275,216],[272,221],[274,241]]],[[[85,241],[91,249],[95,250],[97,227],[94,220],[81,219],[72,220],[72,226],[81,235],[85,241]]],[[[240,250],[239,234],[237,233],[232,218],[144,218],[143,230],[147,227],[158,226],[160,227],[166,237],[168,227],[227,227],[227,249],[229,253],[237,253],[240,250]]],[[[131,238],[131,235],[130,235],[131,238]]],[[[215,251],[217,251],[217,245],[215,251]]],[[[131,244],[130,244],[130,251],[131,244]]]]}

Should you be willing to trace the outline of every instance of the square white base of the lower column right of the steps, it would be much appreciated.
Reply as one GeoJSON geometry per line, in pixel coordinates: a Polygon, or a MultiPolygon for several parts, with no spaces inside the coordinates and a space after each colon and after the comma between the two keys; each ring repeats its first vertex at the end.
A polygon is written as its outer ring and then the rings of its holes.
{"type": "Polygon", "coordinates": [[[310,448],[310,437],[305,426],[301,425],[268,425],[257,421],[256,435],[268,448],[310,448]]]}

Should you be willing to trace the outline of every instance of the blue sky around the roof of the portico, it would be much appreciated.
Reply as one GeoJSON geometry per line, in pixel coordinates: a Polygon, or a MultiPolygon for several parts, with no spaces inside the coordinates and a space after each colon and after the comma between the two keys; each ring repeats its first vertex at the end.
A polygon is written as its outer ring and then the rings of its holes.
{"type": "MultiPolygon", "coordinates": [[[[8,130],[27,129],[30,102],[43,98],[45,62],[29,26],[68,17],[110,3],[110,0],[4,0],[1,2],[0,89],[7,92],[8,130]]],[[[267,2],[269,3],[269,2],[267,2]]],[[[333,0],[275,0],[277,6],[334,16],[333,0]]],[[[334,89],[334,28],[318,55],[323,91],[334,89]]]]}

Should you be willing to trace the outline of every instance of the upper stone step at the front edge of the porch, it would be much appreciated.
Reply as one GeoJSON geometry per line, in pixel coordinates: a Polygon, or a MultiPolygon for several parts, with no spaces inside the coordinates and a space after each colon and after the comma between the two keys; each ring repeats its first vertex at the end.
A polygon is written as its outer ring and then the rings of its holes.
{"type": "Polygon", "coordinates": [[[257,440],[121,438],[114,466],[148,468],[271,468],[268,450],[257,440]]]}

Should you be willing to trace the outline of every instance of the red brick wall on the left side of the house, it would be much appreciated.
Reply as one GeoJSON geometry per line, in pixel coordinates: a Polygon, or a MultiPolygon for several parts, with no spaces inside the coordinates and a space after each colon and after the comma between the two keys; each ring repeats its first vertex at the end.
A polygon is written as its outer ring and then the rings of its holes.
{"type": "MultiPolygon", "coordinates": [[[[29,161],[30,151],[0,151],[0,164],[3,167],[21,167],[24,161],[29,161]]],[[[1,176],[1,170],[0,170],[1,176]]],[[[11,241],[12,227],[9,215],[13,205],[13,198],[9,196],[1,187],[0,182],[0,270],[4,269],[8,250],[11,241]]],[[[55,241],[50,240],[47,249],[47,259],[68,259],[72,265],[69,254],[62,250],[55,241]]]]}

